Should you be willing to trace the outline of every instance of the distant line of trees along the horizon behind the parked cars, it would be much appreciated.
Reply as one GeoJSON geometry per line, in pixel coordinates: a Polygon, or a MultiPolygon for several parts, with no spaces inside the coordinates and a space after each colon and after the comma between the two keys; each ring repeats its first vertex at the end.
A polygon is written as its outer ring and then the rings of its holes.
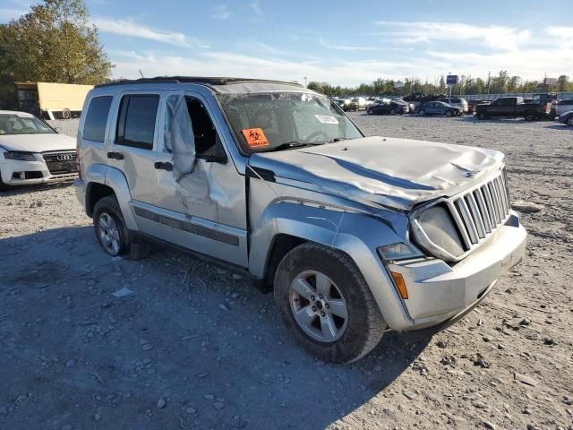
{"type": "MultiPolygon", "coordinates": [[[[327,96],[357,96],[357,95],[389,95],[399,96],[413,92],[423,94],[444,94],[449,92],[444,76],[436,82],[422,82],[417,78],[406,78],[403,81],[378,78],[372,83],[361,83],[357,87],[341,87],[330,85],[328,82],[309,82],[308,88],[326,94],[327,96]]],[[[452,87],[452,94],[507,94],[520,92],[538,91],[573,91],[573,82],[569,77],[562,74],[556,85],[545,86],[543,81],[526,81],[519,76],[510,76],[506,70],[501,70],[497,75],[487,78],[474,78],[471,75],[462,74],[458,78],[458,84],[452,87]]]]}

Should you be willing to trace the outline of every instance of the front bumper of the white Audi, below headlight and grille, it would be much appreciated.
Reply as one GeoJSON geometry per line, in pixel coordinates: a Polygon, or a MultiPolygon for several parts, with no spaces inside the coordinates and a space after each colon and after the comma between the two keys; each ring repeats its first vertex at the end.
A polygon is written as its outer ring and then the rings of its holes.
{"type": "Polygon", "coordinates": [[[0,175],[5,185],[33,185],[71,180],[76,173],[53,175],[45,161],[20,161],[4,159],[0,162],[0,175]]]}

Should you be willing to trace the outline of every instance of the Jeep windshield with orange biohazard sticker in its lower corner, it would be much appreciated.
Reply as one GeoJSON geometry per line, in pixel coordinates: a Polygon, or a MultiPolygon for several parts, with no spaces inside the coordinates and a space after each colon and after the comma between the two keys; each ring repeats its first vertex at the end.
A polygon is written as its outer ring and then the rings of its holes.
{"type": "Polygon", "coordinates": [[[218,94],[245,152],[363,137],[326,96],[306,92],[218,94]]]}

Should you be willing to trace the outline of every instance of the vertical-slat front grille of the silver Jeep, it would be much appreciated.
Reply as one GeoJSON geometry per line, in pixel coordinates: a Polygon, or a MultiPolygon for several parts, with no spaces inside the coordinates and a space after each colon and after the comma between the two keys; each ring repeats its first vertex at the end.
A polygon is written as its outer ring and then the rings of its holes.
{"type": "Polygon", "coordinates": [[[479,245],[508,218],[511,209],[505,169],[491,181],[448,202],[466,251],[479,245]]]}

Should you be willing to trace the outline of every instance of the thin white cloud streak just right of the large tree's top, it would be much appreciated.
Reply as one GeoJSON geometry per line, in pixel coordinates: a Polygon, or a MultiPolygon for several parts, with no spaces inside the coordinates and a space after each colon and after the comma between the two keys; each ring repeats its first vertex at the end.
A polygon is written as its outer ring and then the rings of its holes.
{"type": "Polygon", "coordinates": [[[98,17],[92,22],[102,33],[112,33],[137,39],[148,39],[160,43],[167,43],[178,47],[208,47],[200,39],[189,38],[184,33],[156,30],[146,27],[133,20],[115,20],[113,18],[98,17]]]}

